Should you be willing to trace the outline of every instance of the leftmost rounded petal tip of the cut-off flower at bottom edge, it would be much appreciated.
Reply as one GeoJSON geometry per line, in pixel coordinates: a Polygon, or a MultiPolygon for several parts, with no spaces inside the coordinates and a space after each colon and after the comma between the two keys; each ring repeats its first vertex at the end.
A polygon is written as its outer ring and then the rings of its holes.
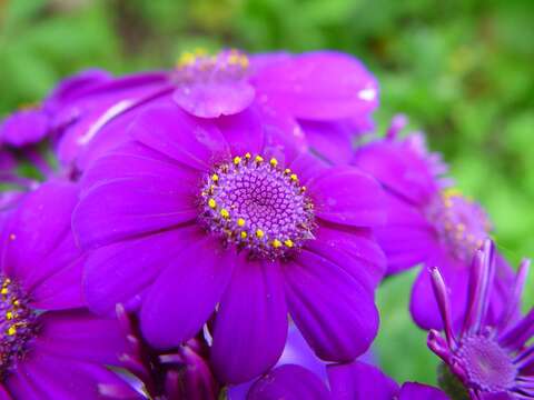
{"type": "Polygon", "coordinates": [[[250,388],[247,400],[326,400],[325,384],[307,369],[285,364],[274,369],[250,388]]]}

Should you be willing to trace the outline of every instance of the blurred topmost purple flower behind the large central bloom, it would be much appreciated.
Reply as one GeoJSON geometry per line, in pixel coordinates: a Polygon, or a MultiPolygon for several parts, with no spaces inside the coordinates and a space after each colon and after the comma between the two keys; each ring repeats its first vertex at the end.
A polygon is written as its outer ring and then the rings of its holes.
{"type": "Polygon", "coordinates": [[[372,129],[378,83],[356,59],[337,52],[247,56],[239,50],[184,53],[176,68],[111,80],[86,93],[83,123],[70,129],[59,158],[78,170],[123,143],[139,112],[169,101],[202,119],[251,107],[263,119],[284,121],[295,140],[329,161],[347,162],[355,133],[372,129]],[[97,107],[93,107],[97,104],[97,107]]]}

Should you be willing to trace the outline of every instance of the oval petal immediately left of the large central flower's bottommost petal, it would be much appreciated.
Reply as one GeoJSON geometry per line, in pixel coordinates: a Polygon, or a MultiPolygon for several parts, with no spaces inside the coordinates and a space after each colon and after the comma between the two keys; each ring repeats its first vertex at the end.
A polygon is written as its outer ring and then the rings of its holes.
{"type": "Polygon", "coordinates": [[[230,280],[236,254],[200,238],[159,276],[141,309],[141,329],[157,348],[194,337],[215,311],[230,280]]]}

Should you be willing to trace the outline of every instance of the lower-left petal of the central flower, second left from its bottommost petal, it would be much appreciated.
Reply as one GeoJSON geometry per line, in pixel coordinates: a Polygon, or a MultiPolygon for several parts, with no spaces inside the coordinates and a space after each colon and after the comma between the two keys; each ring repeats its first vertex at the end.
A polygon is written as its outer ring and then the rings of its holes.
{"type": "Polygon", "coordinates": [[[112,316],[117,303],[134,302],[161,270],[179,262],[180,252],[191,240],[200,237],[196,227],[180,228],[93,251],[83,277],[89,308],[112,316]]]}

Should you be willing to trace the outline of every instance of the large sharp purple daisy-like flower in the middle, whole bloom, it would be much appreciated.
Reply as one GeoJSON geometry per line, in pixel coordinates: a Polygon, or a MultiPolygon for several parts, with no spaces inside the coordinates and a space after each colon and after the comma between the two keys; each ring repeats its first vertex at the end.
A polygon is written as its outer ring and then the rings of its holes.
{"type": "Polygon", "coordinates": [[[158,348],[192,338],[216,311],[211,362],[228,383],[276,362],[288,312],[323,359],[367,350],[385,269],[370,232],[385,220],[377,182],[294,151],[253,110],[206,120],[169,103],[129,133],[86,172],[73,213],[79,243],[93,250],[93,311],[140,306],[158,348]]]}

